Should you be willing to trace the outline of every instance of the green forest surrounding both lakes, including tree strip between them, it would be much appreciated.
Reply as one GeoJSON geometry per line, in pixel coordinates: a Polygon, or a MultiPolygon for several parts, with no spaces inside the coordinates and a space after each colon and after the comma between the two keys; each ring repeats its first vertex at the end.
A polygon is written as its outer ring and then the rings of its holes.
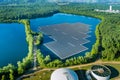
{"type": "MultiPolygon", "coordinates": [[[[0,6],[0,22],[18,22],[25,25],[26,41],[29,44],[28,56],[18,61],[18,66],[12,64],[0,68],[0,79],[14,80],[17,76],[22,75],[31,67],[33,55],[33,35],[38,35],[36,45],[41,43],[41,33],[35,33],[30,30],[29,19],[38,17],[52,16],[55,13],[71,13],[76,15],[92,16],[101,19],[101,23],[96,27],[96,43],[92,50],[86,53],[86,56],[78,56],[61,61],[59,59],[51,60],[50,56],[43,56],[40,49],[36,51],[38,66],[40,67],[63,67],[77,64],[85,64],[96,59],[119,60],[120,61],[120,14],[95,12],[94,9],[108,9],[108,4],[77,4],[69,5],[57,4],[29,4],[29,5],[10,5],[0,6]],[[27,20],[23,20],[27,19],[27,20]],[[72,62],[72,63],[71,63],[72,62]],[[14,77],[16,76],[16,77],[14,77]]],[[[120,9],[120,6],[113,5],[113,9],[120,9]]]]}

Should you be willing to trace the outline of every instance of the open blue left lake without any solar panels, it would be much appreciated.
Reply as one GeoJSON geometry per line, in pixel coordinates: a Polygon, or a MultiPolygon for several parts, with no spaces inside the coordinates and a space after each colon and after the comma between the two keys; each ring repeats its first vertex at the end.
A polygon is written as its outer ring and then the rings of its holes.
{"type": "Polygon", "coordinates": [[[0,23],[0,67],[8,63],[16,65],[27,53],[24,25],[0,23]]]}

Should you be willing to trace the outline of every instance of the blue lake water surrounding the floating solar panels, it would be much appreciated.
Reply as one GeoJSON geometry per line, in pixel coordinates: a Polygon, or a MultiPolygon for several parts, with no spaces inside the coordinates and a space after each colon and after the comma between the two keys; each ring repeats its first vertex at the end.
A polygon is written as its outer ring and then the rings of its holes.
{"type": "MultiPolygon", "coordinates": [[[[72,15],[72,14],[64,14],[64,13],[57,13],[54,14],[53,16],[50,17],[45,17],[45,18],[37,18],[37,19],[31,19],[31,29],[33,31],[38,32],[38,28],[39,27],[44,27],[46,25],[53,25],[53,24],[61,24],[61,23],[77,23],[77,22],[81,22],[81,23],[85,23],[90,26],[91,29],[91,33],[88,33],[89,35],[91,35],[91,37],[87,38],[88,40],[90,40],[89,43],[84,44],[84,46],[86,46],[87,48],[89,48],[88,50],[81,52],[80,54],[77,54],[75,56],[81,55],[84,56],[86,52],[90,51],[92,48],[92,45],[95,43],[96,41],[96,37],[95,37],[95,29],[96,29],[96,25],[98,25],[100,23],[99,19],[96,18],[92,18],[92,17],[85,17],[85,16],[79,16],[79,15],[72,15]]],[[[52,41],[52,39],[50,39],[48,36],[44,36],[44,43],[52,41]]],[[[50,50],[48,50],[45,46],[40,46],[41,52],[44,55],[51,55],[51,57],[54,58],[58,58],[55,54],[53,54],[50,50]]]]}

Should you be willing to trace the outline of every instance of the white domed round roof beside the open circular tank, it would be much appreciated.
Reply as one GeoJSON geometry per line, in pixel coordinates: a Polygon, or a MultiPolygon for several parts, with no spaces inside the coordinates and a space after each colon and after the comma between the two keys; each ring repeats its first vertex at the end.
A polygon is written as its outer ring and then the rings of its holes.
{"type": "Polygon", "coordinates": [[[78,76],[71,69],[60,68],[52,73],[50,80],[78,80],[78,76]]]}

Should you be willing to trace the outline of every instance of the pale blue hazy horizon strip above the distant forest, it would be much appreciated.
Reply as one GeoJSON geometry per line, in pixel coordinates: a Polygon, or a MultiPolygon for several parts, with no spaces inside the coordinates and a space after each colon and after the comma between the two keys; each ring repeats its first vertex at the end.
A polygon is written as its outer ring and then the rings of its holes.
{"type": "Polygon", "coordinates": [[[71,2],[71,3],[120,3],[120,0],[0,0],[1,4],[21,4],[21,3],[57,3],[57,2],[71,2]]]}

